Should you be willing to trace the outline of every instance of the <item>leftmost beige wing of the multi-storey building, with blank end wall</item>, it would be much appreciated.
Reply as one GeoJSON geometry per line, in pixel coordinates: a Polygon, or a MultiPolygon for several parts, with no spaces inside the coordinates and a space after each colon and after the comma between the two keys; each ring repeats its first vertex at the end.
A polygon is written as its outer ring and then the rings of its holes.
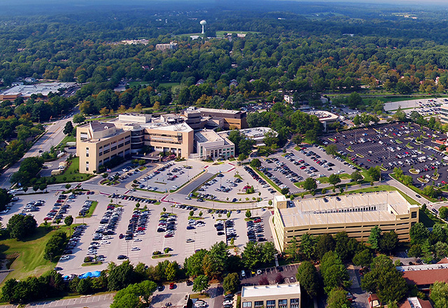
{"type": "Polygon", "coordinates": [[[111,123],[90,122],[76,128],[76,156],[79,172],[93,174],[116,156],[131,153],[131,132],[118,129],[111,123]]]}

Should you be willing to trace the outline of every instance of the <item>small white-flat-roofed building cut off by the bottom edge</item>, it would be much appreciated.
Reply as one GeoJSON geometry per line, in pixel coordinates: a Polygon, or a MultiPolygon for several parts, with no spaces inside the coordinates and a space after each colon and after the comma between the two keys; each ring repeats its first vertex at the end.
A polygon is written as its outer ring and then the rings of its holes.
{"type": "Polygon", "coordinates": [[[243,286],[238,308],[300,308],[300,283],[243,286]]]}

